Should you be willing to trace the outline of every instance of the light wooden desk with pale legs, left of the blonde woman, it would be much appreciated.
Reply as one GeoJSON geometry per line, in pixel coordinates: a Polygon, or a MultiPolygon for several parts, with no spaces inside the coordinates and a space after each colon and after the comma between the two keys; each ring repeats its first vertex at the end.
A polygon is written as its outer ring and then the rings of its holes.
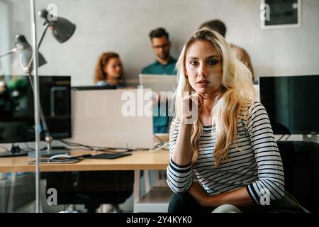
{"type": "MultiPolygon", "coordinates": [[[[71,155],[90,153],[87,150],[75,150],[71,155]]],[[[92,153],[94,154],[94,153],[92,153]]],[[[97,154],[97,153],[96,153],[97,154]]],[[[35,172],[35,165],[28,165],[29,157],[1,157],[0,172],[35,172]]],[[[166,170],[169,164],[169,152],[157,150],[148,152],[145,150],[134,151],[132,155],[113,160],[84,159],[74,164],[43,164],[41,172],[62,171],[103,171],[103,170],[134,170],[134,204],[140,201],[140,171],[141,170],[166,170]]],[[[15,177],[14,177],[15,178],[15,177]]],[[[149,172],[145,172],[145,179],[149,179],[149,172]]],[[[150,181],[145,181],[145,191],[150,192],[150,181]]]]}

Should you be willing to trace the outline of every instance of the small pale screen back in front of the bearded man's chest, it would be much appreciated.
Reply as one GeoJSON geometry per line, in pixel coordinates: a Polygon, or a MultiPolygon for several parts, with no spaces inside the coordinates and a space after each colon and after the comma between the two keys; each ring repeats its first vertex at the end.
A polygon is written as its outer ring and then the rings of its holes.
{"type": "Polygon", "coordinates": [[[140,86],[153,92],[174,92],[177,87],[176,75],[139,74],[140,86]]]}

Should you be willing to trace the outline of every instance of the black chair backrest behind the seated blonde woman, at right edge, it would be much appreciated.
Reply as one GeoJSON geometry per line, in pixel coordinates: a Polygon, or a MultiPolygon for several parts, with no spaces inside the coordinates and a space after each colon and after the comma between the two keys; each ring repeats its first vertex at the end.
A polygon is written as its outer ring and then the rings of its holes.
{"type": "Polygon", "coordinates": [[[319,144],[277,141],[284,165],[285,188],[301,206],[319,212],[319,144]]]}

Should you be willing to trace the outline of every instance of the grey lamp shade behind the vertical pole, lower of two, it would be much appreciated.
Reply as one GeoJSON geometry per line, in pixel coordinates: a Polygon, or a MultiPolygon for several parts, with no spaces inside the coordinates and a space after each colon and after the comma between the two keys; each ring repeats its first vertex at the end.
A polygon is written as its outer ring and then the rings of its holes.
{"type": "MultiPolygon", "coordinates": [[[[30,44],[28,43],[28,41],[26,40],[26,37],[20,34],[16,35],[16,42],[14,43],[14,45],[17,48],[17,52],[20,58],[20,64],[23,70],[25,72],[28,72],[28,70],[32,72],[32,67],[33,67],[32,63],[30,64],[30,68],[29,68],[29,62],[32,58],[32,48],[30,44]]],[[[45,65],[47,61],[45,60],[43,55],[40,52],[38,52],[38,56],[39,56],[39,60],[38,60],[39,67],[42,65],[45,65]]]]}

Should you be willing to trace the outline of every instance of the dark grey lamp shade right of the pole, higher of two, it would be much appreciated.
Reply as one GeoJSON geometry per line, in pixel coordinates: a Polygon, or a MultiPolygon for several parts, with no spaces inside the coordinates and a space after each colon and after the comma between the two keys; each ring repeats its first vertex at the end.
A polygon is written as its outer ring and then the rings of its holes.
{"type": "MultiPolygon", "coordinates": [[[[39,16],[44,18],[45,21],[48,23],[49,20],[47,19],[47,12],[46,9],[42,9],[39,11],[39,16]]],[[[50,26],[50,30],[52,32],[53,37],[59,43],[65,43],[74,33],[75,31],[75,24],[71,21],[67,20],[66,18],[62,18],[58,16],[56,20],[52,21],[52,25],[50,26]]]]}

